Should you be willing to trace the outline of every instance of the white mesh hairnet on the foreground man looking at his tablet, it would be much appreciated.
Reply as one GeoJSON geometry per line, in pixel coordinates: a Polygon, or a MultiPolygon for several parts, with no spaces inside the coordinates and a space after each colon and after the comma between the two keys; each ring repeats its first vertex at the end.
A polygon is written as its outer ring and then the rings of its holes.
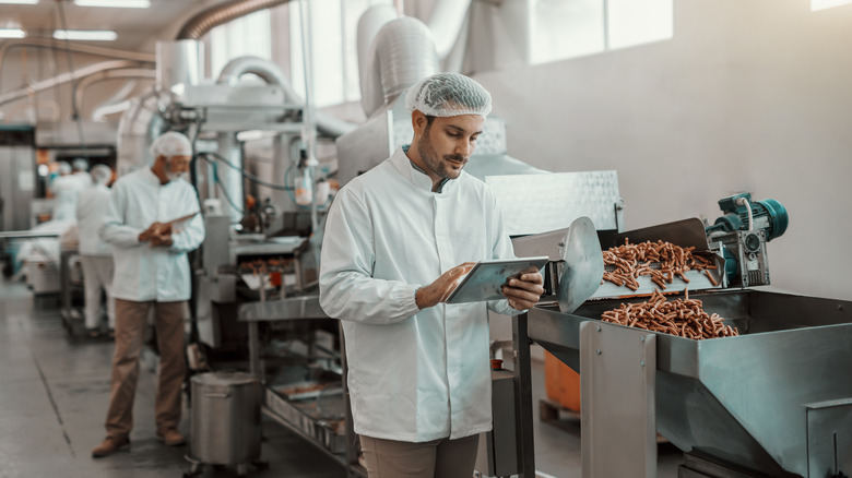
{"type": "Polygon", "coordinates": [[[409,88],[405,108],[437,117],[486,117],[492,111],[492,95],[481,84],[463,74],[438,73],[409,88]]]}

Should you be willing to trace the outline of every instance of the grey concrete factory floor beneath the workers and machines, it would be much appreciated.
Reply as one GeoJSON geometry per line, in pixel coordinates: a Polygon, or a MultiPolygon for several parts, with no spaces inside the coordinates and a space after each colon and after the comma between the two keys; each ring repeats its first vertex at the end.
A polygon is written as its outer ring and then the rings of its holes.
{"type": "MultiPolygon", "coordinates": [[[[113,344],[71,338],[54,301],[34,300],[22,283],[0,283],[0,478],[176,477],[189,470],[185,446],[154,438],[154,375],[143,367],[134,406],[131,450],[93,459],[104,438],[113,344]]],[[[544,394],[543,367],[533,370],[534,403],[544,394]]],[[[536,470],[542,477],[580,477],[579,420],[542,423],[534,407],[536,470]]],[[[181,431],[189,431],[185,411],[181,431]]],[[[276,422],[264,420],[261,458],[268,470],[251,477],[344,477],[327,455],[276,422]]],[[[682,454],[663,445],[661,478],[676,477],[682,454]]],[[[204,477],[236,476],[204,467],[204,477]]]]}

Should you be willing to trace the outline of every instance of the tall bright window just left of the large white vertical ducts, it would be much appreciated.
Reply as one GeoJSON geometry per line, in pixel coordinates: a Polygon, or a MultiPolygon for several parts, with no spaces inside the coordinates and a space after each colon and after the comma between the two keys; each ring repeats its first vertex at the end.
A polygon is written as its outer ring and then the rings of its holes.
{"type": "MultiPolygon", "coordinates": [[[[358,82],[358,20],[375,4],[392,0],[310,0],[309,7],[313,70],[312,104],[316,107],[360,99],[358,82]]],[[[305,96],[305,63],[301,45],[301,3],[291,1],[289,45],[293,88],[305,96]]]]}

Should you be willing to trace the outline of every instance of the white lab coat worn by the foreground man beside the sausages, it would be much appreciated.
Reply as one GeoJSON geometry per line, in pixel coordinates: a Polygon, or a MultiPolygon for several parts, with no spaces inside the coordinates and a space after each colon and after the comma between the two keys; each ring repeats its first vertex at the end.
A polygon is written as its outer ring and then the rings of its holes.
{"type": "Polygon", "coordinates": [[[431,192],[402,150],[338,193],[327,218],[320,304],[341,319],[355,431],[424,442],[492,429],[487,308],[418,310],[414,295],[463,262],[513,258],[496,198],[462,172],[431,192]]]}

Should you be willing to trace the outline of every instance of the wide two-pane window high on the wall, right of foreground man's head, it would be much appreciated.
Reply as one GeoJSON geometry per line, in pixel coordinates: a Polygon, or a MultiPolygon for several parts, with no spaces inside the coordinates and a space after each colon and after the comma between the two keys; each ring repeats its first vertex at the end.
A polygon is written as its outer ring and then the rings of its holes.
{"type": "Polygon", "coordinates": [[[673,34],[672,0],[529,2],[533,64],[668,39],[673,34]]]}

